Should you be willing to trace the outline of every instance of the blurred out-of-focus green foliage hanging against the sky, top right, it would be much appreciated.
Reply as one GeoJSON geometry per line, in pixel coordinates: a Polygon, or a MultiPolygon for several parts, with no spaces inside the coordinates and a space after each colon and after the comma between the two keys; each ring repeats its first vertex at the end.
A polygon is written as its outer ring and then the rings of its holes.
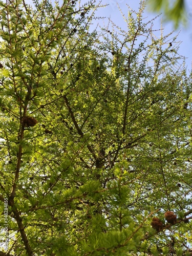
{"type": "Polygon", "coordinates": [[[151,6],[151,9],[156,12],[162,10],[165,18],[167,20],[173,20],[175,27],[178,28],[179,23],[186,14],[185,2],[184,0],[175,0],[174,2],[170,2],[171,1],[168,0],[150,0],[149,6],[151,6]]]}

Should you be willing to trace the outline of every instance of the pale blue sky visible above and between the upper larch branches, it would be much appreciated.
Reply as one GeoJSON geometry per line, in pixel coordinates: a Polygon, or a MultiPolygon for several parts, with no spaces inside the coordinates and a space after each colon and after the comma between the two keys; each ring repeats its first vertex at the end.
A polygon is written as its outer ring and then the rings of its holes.
{"type": "MultiPolygon", "coordinates": [[[[59,0],[59,2],[62,2],[62,0],[59,0]]],[[[79,2],[79,1],[78,1],[79,2]]],[[[81,4],[85,4],[86,0],[81,0],[81,4]]],[[[97,3],[100,2],[100,0],[96,0],[97,3]]],[[[32,0],[26,0],[27,4],[32,5],[32,0]]],[[[52,3],[54,3],[54,0],[52,0],[52,3]]],[[[122,12],[126,15],[128,12],[129,5],[132,9],[138,10],[140,0],[101,0],[101,3],[104,5],[108,5],[105,8],[99,8],[96,12],[96,16],[106,17],[105,18],[105,25],[108,24],[108,17],[110,17],[113,22],[121,27],[122,29],[126,30],[126,24],[122,18],[122,15],[117,7],[117,4],[119,5],[122,12]]],[[[192,1],[191,0],[185,0],[186,4],[186,15],[180,22],[180,27],[173,33],[173,36],[178,35],[177,41],[180,42],[180,48],[178,53],[182,56],[186,57],[186,65],[188,67],[188,70],[191,70],[191,63],[192,63],[192,1]]],[[[160,13],[153,13],[148,12],[147,8],[144,12],[143,17],[146,17],[146,20],[151,20],[155,16],[157,16],[160,13]]],[[[160,29],[161,28],[161,20],[163,20],[163,14],[161,17],[158,17],[156,20],[154,20],[154,29],[160,29]]],[[[97,23],[98,21],[96,21],[97,23]]],[[[101,21],[99,22],[100,24],[101,21]]],[[[174,24],[172,22],[164,22],[162,21],[162,27],[164,29],[163,34],[166,35],[174,30],[174,24]]],[[[160,36],[159,31],[159,36],[160,36]]],[[[156,34],[158,36],[158,34],[156,34]]]]}

